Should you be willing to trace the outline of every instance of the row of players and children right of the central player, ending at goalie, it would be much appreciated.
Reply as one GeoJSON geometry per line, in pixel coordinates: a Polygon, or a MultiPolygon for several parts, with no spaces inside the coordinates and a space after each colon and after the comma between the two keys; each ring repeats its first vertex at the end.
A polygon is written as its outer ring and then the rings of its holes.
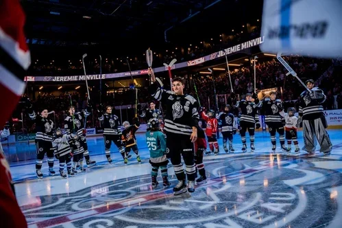
{"type": "MultiPolygon", "coordinates": [[[[306,152],[315,152],[316,138],[321,146],[320,152],[324,154],[330,154],[332,144],[329,138],[326,128],[326,118],[323,115],[323,102],[326,100],[326,96],[321,89],[314,87],[315,82],[310,79],[306,81],[308,90],[301,94],[299,118],[295,116],[295,108],[291,107],[284,112],[284,106],[282,100],[276,99],[276,91],[271,91],[269,97],[263,100],[258,100],[256,94],[247,93],[245,99],[236,101],[236,96],[233,96],[234,108],[240,109],[241,117],[239,122],[239,132],[241,135],[241,141],[243,144],[242,152],[247,151],[246,132],[248,130],[250,149],[251,152],[255,150],[255,129],[260,128],[260,121],[258,117],[258,110],[262,110],[265,113],[265,124],[269,128],[271,137],[271,151],[276,151],[276,133],[279,134],[280,146],[284,152],[291,152],[291,144],[295,146],[295,153],[300,152],[300,147],[297,141],[297,128],[303,127],[304,135],[304,148],[306,152]],[[287,147],[285,146],[285,139],[287,141],[287,147]]],[[[218,121],[222,125],[223,135],[223,149],[225,152],[234,152],[232,147],[233,135],[236,133],[236,123],[234,121],[234,115],[230,113],[230,105],[226,105],[223,112],[218,113],[215,116],[215,111],[210,110],[207,113],[205,108],[200,109],[201,117],[206,121],[206,135],[208,138],[208,144],[210,150],[206,154],[211,152],[215,155],[219,154],[219,145],[217,143],[217,130],[218,121]],[[227,148],[227,141],[229,148],[227,148]]]]}

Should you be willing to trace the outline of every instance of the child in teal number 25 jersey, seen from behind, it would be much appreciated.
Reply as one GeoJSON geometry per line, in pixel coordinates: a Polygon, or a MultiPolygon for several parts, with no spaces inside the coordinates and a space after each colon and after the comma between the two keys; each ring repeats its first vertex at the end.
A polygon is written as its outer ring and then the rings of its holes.
{"type": "Polygon", "coordinates": [[[162,172],[162,185],[167,187],[171,185],[167,179],[167,144],[164,134],[160,131],[159,121],[154,118],[150,121],[151,128],[146,132],[146,143],[149,148],[149,163],[152,166],[152,188],[156,188],[158,185],[157,176],[158,170],[162,172]]]}

